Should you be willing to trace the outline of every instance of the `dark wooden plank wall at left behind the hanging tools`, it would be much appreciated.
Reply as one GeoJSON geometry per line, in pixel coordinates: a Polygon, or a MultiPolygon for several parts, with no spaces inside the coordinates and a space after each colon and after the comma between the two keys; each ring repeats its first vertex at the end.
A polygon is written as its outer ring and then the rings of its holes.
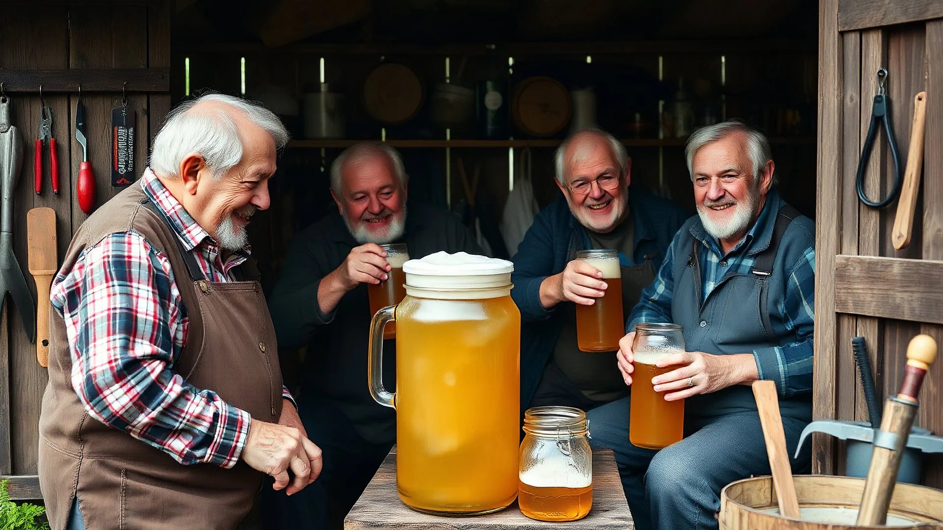
{"type": "MultiPolygon", "coordinates": [[[[170,66],[169,4],[125,5],[8,5],[0,17],[0,68],[83,69],[170,66]]],[[[15,254],[26,281],[35,285],[26,266],[26,212],[52,207],[57,212],[59,262],[78,226],[87,217],[74,198],[74,183],[81,161],[81,146],[74,141],[77,93],[43,94],[53,112],[53,137],[58,143],[59,193],[52,192],[48,147],[42,193],[33,190],[34,146],[40,128],[40,96],[35,92],[8,92],[13,124],[25,141],[24,164],[14,199],[15,254]]],[[[89,156],[100,206],[118,190],[111,188],[108,130],[111,108],[121,106],[121,92],[83,93],[86,105],[89,156]]],[[[136,169],[145,165],[155,127],[170,107],[170,94],[129,92],[128,106],[137,112],[136,169]]],[[[40,302],[43,302],[41,300],[40,302]]],[[[46,301],[47,302],[47,301],[46,301]]],[[[35,308],[28,308],[35,310],[35,308]]],[[[47,374],[36,360],[15,306],[7,301],[0,319],[0,475],[36,473],[42,393],[47,374]],[[8,382],[8,383],[5,383],[8,382]]]]}

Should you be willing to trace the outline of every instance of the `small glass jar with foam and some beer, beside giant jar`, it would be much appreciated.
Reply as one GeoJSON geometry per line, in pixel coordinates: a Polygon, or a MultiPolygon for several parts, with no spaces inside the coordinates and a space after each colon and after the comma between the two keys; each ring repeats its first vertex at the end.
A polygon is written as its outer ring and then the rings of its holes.
{"type": "Polygon", "coordinates": [[[524,413],[518,505],[539,521],[576,521],[592,507],[592,451],[587,415],[571,406],[524,413]]]}

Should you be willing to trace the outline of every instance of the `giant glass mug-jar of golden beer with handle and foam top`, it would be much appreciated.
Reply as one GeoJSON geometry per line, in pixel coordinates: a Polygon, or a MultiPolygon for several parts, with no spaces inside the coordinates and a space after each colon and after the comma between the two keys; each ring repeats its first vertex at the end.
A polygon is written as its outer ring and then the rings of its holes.
{"type": "Polygon", "coordinates": [[[518,493],[521,313],[510,261],[439,252],[403,265],[405,298],[373,316],[370,391],[396,409],[396,486],[409,507],[473,515],[518,493]],[[396,323],[396,393],[383,328],[396,323]]]}

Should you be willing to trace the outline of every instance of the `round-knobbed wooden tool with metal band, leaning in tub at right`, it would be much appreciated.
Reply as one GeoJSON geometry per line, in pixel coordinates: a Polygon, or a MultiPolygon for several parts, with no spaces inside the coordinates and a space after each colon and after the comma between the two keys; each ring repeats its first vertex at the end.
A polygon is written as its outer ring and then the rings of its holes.
{"type": "Polygon", "coordinates": [[[885,524],[890,497],[897,483],[901,456],[910,427],[917,414],[917,394],[923,375],[936,359],[936,341],[929,335],[918,335],[907,345],[907,368],[903,373],[901,391],[885,402],[881,430],[874,433],[871,467],[861,496],[858,521],[861,526],[885,524]]]}

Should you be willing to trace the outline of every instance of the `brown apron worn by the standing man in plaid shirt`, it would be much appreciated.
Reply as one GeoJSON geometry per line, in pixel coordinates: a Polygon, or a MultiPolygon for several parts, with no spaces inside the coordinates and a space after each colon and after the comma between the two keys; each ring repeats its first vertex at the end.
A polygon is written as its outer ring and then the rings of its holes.
{"type": "MultiPolygon", "coordinates": [[[[75,234],[69,269],[82,250],[108,234],[136,230],[171,262],[190,318],[186,344],[172,367],[197,389],[211,389],[254,420],[277,422],[282,380],[277,346],[257,270],[240,280],[207,281],[173,229],[137,183],[99,208],[75,234]]],[[[232,469],[184,466],[124,431],[91,418],[72,387],[65,322],[50,319],[49,384],[40,418],[40,486],[49,521],[65,528],[75,496],[88,530],[233,529],[246,517],[263,473],[239,461],[232,469]]]]}

